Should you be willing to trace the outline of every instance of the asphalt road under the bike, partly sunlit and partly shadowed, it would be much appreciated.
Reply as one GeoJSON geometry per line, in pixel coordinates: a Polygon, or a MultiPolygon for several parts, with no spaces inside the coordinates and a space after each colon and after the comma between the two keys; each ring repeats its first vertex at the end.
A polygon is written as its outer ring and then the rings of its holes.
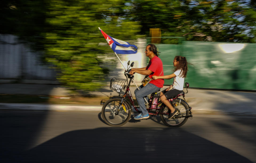
{"type": "Polygon", "coordinates": [[[194,114],[179,128],[160,117],[110,127],[99,112],[0,117],[0,162],[256,162],[255,116],[194,114]]]}

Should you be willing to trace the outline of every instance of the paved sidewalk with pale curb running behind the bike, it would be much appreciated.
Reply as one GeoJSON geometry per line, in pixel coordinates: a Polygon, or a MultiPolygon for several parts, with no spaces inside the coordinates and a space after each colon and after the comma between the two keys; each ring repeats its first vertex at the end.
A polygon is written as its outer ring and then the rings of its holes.
{"type": "MultiPolygon", "coordinates": [[[[165,86],[161,91],[168,86],[165,86]]],[[[136,87],[130,87],[132,95],[136,87]]],[[[242,114],[256,116],[256,92],[222,91],[189,88],[185,96],[193,113],[242,114]]],[[[184,89],[184,92],[186,90],[184,89]]],[[[26,95],[69,95],[69,91],[58,85],[50,84],[0,84],[1,94],[26,95]]],[[[98,92],[98,96],[118,95],[109,87],[98,92]]],[[[54,105],[54,104],[10,104],[1,103],[0,109],[47,110],[47,111],[101,111],[102,105],[54,105]]]]}

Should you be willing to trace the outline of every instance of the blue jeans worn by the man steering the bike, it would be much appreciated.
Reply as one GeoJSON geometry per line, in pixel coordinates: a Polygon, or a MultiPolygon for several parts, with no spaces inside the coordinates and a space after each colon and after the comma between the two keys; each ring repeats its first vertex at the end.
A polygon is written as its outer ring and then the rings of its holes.
{"type": "Polygon", "coordinates": [[[144,97],[146,97],[148,99],[147,95],[154,93],[160,89],[161,88],[159,88],[151,83],[147,84],[145,87],[143,87],[143,85],[139,86],[139,90],[138,90],[138,88],[135,89],[134,94],[135,94],[136,100],[139,104],[139,108],[140,108],[140,111],[142,112],[142,115],[148,114],[146,106],[145,106],[144,97]]]}

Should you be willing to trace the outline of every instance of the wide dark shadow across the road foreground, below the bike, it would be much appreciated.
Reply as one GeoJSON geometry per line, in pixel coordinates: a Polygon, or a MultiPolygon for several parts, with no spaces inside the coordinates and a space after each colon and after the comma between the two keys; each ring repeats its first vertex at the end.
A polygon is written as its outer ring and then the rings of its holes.
{"type": "Polygon", "coordinates": [[[67,132],[5,161],[251,162],[181,128],[115,127],[67,132]]]}

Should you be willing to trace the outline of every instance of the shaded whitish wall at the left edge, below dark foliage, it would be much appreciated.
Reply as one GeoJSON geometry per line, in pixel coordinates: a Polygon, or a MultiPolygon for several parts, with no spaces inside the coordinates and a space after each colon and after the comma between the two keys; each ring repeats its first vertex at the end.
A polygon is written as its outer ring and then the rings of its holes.
{"type": "Polygon", "coordinates": [[[0,34],[0,79],[56,80],[55,71],[38,58],[17,36],[0,34]]]}

